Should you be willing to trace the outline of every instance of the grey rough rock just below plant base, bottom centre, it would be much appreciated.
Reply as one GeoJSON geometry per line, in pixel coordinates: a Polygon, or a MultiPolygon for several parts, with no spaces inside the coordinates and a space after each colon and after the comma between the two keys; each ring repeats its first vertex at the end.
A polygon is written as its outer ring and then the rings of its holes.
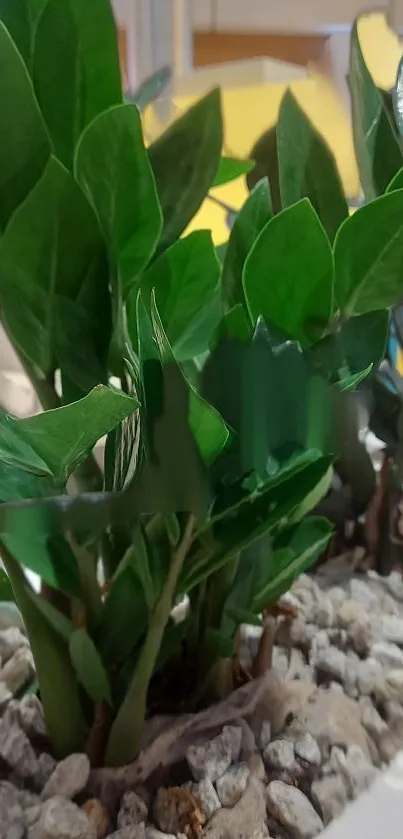
{"type": "Polygon", "coordinates": [[[225,726],[222,733],[199,746],[189,746],[186,760],[195,781],[209,778],[216,781],[227,771],[231,763],[239,757],[242,742],[242,729],[225,726]],[[235,729],[239,734],[234,734],[235,729]],[[239,742],[239,746],[238,746],[239,742]],[[236,752],[238,751],[238,754],[236,752]]]}

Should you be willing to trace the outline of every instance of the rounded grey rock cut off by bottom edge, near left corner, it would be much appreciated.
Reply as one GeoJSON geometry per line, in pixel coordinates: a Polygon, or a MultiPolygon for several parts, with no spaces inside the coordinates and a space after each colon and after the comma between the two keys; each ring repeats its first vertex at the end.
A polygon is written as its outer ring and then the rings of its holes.
{"type": "Polygon", "coordinates": [[[36,839],[95,839],[95,828],[76,804],[57,796],[42,807],[36,839]]]}

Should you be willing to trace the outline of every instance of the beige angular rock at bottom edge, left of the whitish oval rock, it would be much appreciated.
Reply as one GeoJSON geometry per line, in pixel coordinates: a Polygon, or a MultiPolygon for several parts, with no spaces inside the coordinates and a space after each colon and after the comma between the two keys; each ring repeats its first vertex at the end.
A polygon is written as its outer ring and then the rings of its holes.
{"type": "Polygon", "coordinates": [[[250,777],[246,790],[231,809],[221,808],[203,831],[203,839],[269,839],[263,784],[250,777]]]}

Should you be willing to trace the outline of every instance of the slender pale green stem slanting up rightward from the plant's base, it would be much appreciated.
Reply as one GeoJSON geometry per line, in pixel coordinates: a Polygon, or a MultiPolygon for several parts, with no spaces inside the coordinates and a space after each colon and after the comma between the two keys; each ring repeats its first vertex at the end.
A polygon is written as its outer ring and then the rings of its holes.
{"type": "Polygon", "coordinates": [[[129,763],[138,753],[146,716],[148,686],[171,613],[179,574],[193,541],[194,525],[195,517],[191,513],[182,538],[172,553],[168,577],[150,617],[148,632],[136,670],[112,726],[106,752],[108,766],[129,763]]]}

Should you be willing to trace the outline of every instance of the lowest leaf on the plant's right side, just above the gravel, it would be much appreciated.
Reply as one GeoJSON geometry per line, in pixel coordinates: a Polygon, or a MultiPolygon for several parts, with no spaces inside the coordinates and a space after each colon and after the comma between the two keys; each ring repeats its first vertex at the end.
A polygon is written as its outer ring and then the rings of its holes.
{"type": "Polygon", "coordinates": [[[319,559],[332,531],[332,525],[326,519],[311,516],[280,534],[268,563],[269,580],[255,596],[256,612],[277,603],[289,591],[294,580],[319,559]]]}

